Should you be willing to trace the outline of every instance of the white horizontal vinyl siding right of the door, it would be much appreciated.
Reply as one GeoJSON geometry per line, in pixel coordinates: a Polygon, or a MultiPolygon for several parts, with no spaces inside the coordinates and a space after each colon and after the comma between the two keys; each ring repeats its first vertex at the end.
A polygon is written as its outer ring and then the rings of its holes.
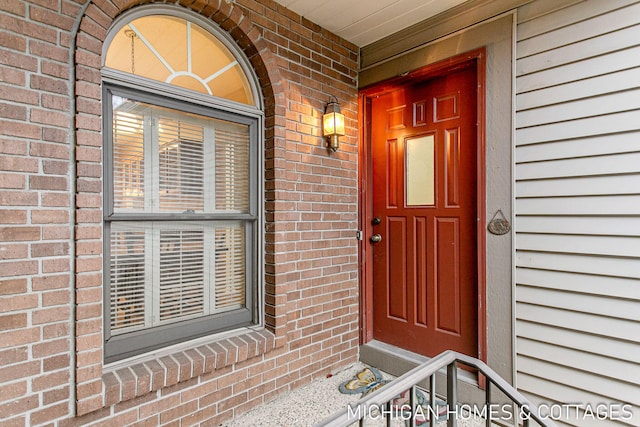
{"type": "MultiPolygon", "coordinates": [[[[516,382],[640,422],[640,2],[518,9],[516,382]]],[[[624,418],[624,419],[621,419],[624,418]]]]}

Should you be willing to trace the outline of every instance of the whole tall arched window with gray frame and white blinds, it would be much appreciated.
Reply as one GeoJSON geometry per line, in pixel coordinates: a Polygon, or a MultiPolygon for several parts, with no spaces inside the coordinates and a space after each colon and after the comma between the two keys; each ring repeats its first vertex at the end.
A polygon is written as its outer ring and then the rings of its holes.
{"type": "Polygon", "coordinates": [[[262,115],[213,31],[144,8],[107,39],[106,362],[259,323],[262,115]]]}

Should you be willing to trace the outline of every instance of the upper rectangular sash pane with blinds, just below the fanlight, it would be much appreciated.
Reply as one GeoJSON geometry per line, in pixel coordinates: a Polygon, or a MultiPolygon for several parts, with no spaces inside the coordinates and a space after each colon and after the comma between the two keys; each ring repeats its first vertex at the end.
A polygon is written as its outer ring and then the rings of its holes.
{"type": "Polygon", "coordinates": [[[114,212],[248,212],[250,129],[114,97],[114,212]]]}

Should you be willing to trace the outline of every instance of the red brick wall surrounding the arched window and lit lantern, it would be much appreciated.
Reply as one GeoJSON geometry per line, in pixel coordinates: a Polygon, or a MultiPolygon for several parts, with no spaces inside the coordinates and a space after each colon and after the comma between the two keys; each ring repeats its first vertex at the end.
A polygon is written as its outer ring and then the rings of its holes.
{"type": "Polygon", "coordinates": [[[103,366],[99,70],[138,3],[0,2],[2,425],[217,425],[357,357],[357,48],[273,1],[183,0],[262,87],[266,328],[103,366]],[[329,94],[348,126],[331,156],[329,94]]]}

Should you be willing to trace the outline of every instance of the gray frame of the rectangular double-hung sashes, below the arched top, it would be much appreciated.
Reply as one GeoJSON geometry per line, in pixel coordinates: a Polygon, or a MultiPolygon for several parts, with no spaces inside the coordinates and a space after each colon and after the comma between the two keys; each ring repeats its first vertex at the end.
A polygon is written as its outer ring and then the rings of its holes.
{"type": "Polygon", "coordinates": [[[262,222],[259,206],[262,195],[262,172],[260,170],[262,153],[262,120],[256,117],[239,113],[232,113],[226,109],[205,107],[193,104],[189,101],[176,100],[155,93],[148,93],[125,86],[105,83],[103,85],[103,129],[105,137],[104,146],[104,360],[105,363],[114,362],[148,351],[156,350],[182,341],[199,338],[219,332],[228,331],[244,326],[261,324],[262,319],[262,292],[260,277],[262,271],[262,222]],[[250,205],[249,212],[237,213],[211,213],[211,214],[115,214],[113,212],[113,156],[112,156],[112,103],[113,95],[123,96],[153,105],[160,105],[178,111],[187,111],[216,119],[242,123],[250,129],[250,205]],[[114,221],[224,221],[241,220],[245,224],[246,239],[246,308],[232,310],[209,316],[202,316],[169,325],[158,326],[146,330],[111,336],[110,334],[110,224],[114,221]]]}

